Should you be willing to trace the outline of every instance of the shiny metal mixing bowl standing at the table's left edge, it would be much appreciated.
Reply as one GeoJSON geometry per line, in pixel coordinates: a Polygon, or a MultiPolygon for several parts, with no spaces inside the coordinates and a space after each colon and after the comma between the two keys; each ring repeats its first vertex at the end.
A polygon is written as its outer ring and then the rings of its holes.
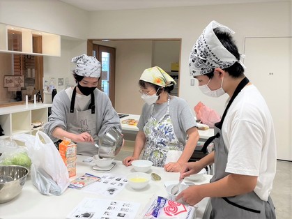
{"type": "Polygon", "coordinates": [[[0,204],[9,202],[22,192],[29,169],[17,165],[0,166],[0,204]]]}

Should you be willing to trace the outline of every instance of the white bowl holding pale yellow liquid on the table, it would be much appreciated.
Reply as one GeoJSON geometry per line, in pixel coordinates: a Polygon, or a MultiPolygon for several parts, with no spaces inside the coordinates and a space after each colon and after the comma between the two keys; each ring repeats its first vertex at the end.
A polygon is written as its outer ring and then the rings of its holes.
{"type": "Polygon", "coordinates": [[[139,190],[142,188],[145,188],[150,179],[150,174],[146,174],[144,172],[133,172],[131,174],[128,174],[127,176],[128,184],[135,190],[139,190]]]}

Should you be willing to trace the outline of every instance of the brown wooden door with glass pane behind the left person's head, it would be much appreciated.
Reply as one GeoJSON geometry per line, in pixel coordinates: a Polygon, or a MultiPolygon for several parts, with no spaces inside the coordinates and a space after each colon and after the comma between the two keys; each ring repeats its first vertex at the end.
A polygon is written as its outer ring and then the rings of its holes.
{"type": "Polygon", "coordinates": [[[100,80],[98,81],[98,89],[107,93],[114,107],[116,49],[104,45],[93,44],[92,52],[93,56],[100,61],[102,66],[100,80]]]}

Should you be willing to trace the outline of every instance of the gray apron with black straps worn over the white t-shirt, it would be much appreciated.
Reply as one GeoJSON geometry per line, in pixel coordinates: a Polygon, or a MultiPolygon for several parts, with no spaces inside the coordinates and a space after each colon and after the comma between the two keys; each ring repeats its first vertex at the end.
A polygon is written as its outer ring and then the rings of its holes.
{"type": "MultiPolygon", "coordinates": [[[[228,150],[226,149],[222,138],[221,128],[231,103],[248,82],[249,80],[245,77],[240,84],[238,84],[236,91],[234,91],[231,100],[226,106],[221,121],[215,123],[215,136],[210,138],[213,139],[215,146],[215,174],[210,182],[218,181],[229,175],[229,173],[225,172],[228,150]]],[[[210,218],[276,218],[275,207],[272,203],[272,199],[268,197],[268,201],[265,202],[261,200],[254,191],[244,195],[236,195],[233,197],[211,197],[210,199],[212,204],[210,218]]]]}

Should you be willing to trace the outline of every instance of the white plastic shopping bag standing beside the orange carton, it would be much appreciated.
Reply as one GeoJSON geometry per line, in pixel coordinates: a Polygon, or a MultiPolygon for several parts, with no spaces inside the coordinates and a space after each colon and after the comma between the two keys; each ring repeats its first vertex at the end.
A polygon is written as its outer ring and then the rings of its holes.
{"type": "Polygon", "coordinates": [[[36,136],[13,135],[12,139],[24,142],[28,149],[33,185],[44,195],[61,195],[70,180],[68,169],[52,139],[41,131],[36,136]]]}

